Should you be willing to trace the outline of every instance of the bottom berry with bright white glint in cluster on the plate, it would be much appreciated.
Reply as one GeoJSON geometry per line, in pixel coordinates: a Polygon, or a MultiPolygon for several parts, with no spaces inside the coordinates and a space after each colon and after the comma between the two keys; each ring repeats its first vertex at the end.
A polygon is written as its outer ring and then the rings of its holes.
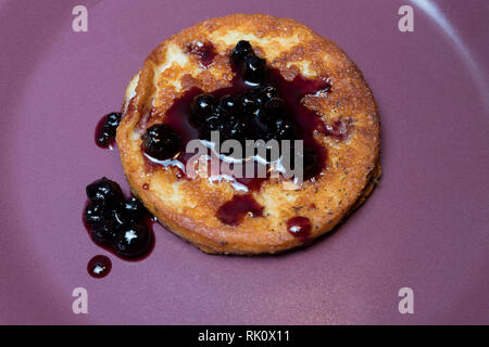
{"type": "Polygon", "coordinates": [[[115,252],[125,258],[135,258],[149,250],[152,234],[149,228],[142,223],[126,224],[120,229],[115,241],[115,252]]]}

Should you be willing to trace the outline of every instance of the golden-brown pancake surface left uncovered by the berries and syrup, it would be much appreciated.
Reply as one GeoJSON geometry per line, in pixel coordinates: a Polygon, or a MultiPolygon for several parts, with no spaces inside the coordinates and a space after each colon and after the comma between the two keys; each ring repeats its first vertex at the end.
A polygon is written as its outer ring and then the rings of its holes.
{"type": "Polygon", "coordinates": [[[372,192],[380,175],[379,118],[371,90],[354,63],[334,42],[306,26],[268,15],[234,14],[199,23],[162,42],[129,85],[117,144],[127,180],[159,221],[174,233],[208,253],[278,253],[299,246],[286,221],[304,216],[312,222],[311,240],[330,231],[372,192]],[[349,121],[348,139],[339,141],[321,133],[316,139],[328,149],[323,175],[300,190],[284,190],[280,181],[266,181],[252,192],[264,206],[264,217],[247,217],[227,226],[217,208],[236,193],[227,182],[181,180],[173,169],[150,169],[140,151],[140,134],[161,123],[173,101],[193,86],[204,91],[227,87],[233,79],[228,62],[240,39],[251,42],[256,54],[278,68],[286,79],[301,73],[329,78],[327,98],[306,97],[304,103],[326,125],[349,121]],[[203,68],[185,49],[191,42],[210,41],[220,53],[203,68]],[[134,90],[135,89],[135,90],[134,90]]]}

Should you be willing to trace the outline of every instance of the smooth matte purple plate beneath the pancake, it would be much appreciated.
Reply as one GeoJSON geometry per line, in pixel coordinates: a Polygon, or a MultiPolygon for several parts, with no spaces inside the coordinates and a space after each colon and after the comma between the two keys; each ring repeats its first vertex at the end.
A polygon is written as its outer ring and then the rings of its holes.
{"type": "Polygon", "coordinates": [[[485,0],[1,1],[1,323],[489,323],[489,108],[485,0]],[[72,29],[88,8],[88,33],[72,29]],[[414,9],[401,33],[398,10],[414,9]],[[139,262],[82,224],[85,185],[123,183],[99,118],[160,41],[213,16],[292,17],[336,41],[378,102],[384,176],[366,204],[311,247],[280,256],[201,253],[155,228],[139,262]],[[75,314],[72,292],[88,292],[75,314]],[[401,314],[410,287],[414,313],[401,314]]]}

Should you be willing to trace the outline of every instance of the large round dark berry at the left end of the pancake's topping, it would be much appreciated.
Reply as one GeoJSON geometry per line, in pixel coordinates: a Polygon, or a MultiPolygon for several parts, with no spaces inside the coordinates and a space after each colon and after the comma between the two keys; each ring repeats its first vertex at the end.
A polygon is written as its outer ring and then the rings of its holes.
{"type": "Polygon", "coordinates": [[[159,160],[173,158],[181,150],[180,137],[165,124],[149,127],[141,140],[145,153],[159,160]]]}

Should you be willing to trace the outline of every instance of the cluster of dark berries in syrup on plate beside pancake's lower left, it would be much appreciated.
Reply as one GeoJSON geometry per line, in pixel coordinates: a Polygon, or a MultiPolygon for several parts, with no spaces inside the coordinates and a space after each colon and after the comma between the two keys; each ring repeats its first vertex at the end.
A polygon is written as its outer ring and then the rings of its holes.
{"type": "Polygon", "coordinates": [[[105,177],[86,191],[84,221],[97,244],[123,258],[137,258],[151,249],[153,235],[145,221],[148,210],[140,201],[125,198],[121,187],[105,177]]]}

